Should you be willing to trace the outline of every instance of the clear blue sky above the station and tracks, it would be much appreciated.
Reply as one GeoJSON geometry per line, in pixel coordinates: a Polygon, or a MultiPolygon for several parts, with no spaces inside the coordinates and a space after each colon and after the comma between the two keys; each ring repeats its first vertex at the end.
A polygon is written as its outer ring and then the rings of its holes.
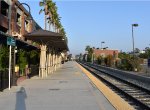
{"type": "MultiPolygon", "coordinates": [[[[39,15],[39,0],[28,3],[35,21],[44,28],[44,14],[39,15]]],[[[135,48],[150,47],[150,1],[54,0],[68,37],[69,53],[84,53],[85,47],[132,51],[132,24],[135,48]]],[[[27,9],[28,10],[28,9],[27,9]]]]}

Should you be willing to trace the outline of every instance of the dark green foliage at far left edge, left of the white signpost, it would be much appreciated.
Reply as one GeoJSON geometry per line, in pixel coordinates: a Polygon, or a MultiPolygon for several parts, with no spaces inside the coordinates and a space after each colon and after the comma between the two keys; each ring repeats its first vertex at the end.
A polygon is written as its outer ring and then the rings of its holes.
{"type": "Polygon", "coordinates": [[[0,70],[4,70],[9,66],[9,48],[5,45],[0,47],[0,70]]]}

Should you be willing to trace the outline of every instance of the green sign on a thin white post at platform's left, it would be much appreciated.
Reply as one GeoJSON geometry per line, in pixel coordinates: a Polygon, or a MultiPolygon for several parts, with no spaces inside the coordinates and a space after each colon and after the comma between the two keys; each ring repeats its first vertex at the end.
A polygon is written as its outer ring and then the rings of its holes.
{"type": "Polygon", "coordinates": [[[9,45],[9,90],[10,90],[11,46],[16,46],[16,40],[13,37],[7,37],[7,45],[9,45]]]}

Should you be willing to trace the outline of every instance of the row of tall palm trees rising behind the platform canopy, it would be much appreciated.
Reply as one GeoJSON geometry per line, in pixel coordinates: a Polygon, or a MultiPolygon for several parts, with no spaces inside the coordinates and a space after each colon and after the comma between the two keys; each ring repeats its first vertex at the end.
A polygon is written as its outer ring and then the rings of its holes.
{"type": "Polygon", "coordinates": [[[62,34],[64,36],[65,41],[67,42],[66,32],[60,22],[61,17],[57,13],[56,3],[52,2],[52,0],[42,0],[40,1],[39,5],[41,7],[44,7],[44,9],[41,9],[39,13],[42,13],[43,11],[45,12],[45,30],[48,20],[49,30],[51,30],[52,26],[53,31],[62,34]]]}

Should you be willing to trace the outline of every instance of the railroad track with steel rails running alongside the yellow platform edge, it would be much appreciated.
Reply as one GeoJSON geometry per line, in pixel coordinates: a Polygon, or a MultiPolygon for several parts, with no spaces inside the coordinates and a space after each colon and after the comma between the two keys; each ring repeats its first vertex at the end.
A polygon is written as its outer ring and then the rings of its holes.
{"type": "Polygon", "coordinates": [[[103,81],[113,91],[128,101],[137,110],[150,110],[150,91],[131,82],[113,76],[98,66],[88,63],[79,63],[93,75],[103,81]]]}

